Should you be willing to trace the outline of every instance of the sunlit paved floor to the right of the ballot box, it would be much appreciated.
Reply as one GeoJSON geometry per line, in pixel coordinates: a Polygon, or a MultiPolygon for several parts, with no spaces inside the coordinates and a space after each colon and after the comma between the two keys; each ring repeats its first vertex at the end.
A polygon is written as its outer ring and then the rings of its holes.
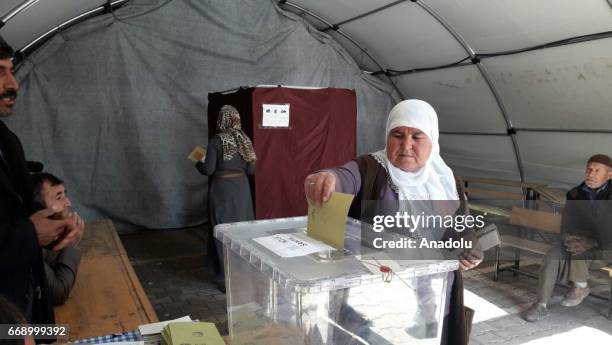
{"type": "MultiPolygon", "coordinates": [[[[522,269],[537,273],[539,264],[522,269]]],[[[579,344],[586,339],[612,344],[612,321],[605,317],[607,301],[588,297],[581,305],[566,308],[559,303],[567,289],[557,287],[549,303],[552,315],[530,323],[522,315],[536,299],[537,280],[515,277],[511,272],[500,273],[498,282],[492,278],[493,268],[489,266],[470,272],[465,279],[465,304],[476,310],[470,344],[556,345],[579,344]]],[[[607,293],[603,278],[598,275],[590,283],[607,293]]]]}

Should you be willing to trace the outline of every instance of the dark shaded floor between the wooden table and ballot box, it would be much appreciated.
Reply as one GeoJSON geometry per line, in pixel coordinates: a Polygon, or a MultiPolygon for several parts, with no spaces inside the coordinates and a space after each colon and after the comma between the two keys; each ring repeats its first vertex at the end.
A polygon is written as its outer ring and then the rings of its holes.
{"type": "Polygon", "coordinates": [[[190,315],[227,334],[225,294],[204,269],[207,231],[144,230],[120,238],[160,320],[190,315]]]}

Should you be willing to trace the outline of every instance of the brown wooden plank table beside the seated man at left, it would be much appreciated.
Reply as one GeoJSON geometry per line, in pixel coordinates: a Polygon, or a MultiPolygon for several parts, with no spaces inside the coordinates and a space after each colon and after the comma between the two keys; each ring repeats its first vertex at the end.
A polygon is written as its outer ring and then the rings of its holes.
{"type": "Polygon", "coordinates": [[[110,220],[87,223],[80,247],[75,286],[66,304],[55,308],[56,324],[70,327],[70,341],[158,321],[110,220]]]}

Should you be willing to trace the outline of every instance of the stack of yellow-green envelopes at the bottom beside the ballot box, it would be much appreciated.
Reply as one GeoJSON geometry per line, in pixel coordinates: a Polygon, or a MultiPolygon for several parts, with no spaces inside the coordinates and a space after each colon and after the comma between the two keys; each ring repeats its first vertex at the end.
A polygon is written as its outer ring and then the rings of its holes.
{"type": "Polygon", "coordinates": [[[225,345],[211,322],[172,322],[161,334],[164,345],[225,345]]]}

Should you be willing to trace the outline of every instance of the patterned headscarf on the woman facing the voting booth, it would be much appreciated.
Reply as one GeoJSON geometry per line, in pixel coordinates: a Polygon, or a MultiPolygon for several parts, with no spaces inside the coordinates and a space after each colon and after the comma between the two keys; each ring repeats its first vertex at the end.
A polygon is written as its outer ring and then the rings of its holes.
{"type": "Polygon", "coordinates": [[[223,142],[223,160],[229,161],[238,152],[247,162],[255,162],[251,139],[240,128],[240,113],[231,105],[224,105],[217,118],[218,135],[223,142]]]}

